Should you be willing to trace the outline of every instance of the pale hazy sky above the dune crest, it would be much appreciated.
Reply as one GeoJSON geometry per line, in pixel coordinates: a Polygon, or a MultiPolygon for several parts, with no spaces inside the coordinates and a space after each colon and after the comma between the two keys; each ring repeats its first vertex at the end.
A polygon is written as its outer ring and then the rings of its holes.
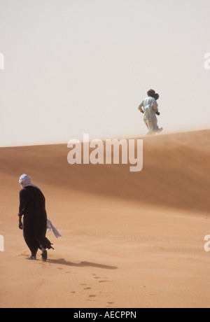
{"type": "Polygon", "coordinates": [[[0,0],[0,146],[210,125],[209,0],[0,0]]]}

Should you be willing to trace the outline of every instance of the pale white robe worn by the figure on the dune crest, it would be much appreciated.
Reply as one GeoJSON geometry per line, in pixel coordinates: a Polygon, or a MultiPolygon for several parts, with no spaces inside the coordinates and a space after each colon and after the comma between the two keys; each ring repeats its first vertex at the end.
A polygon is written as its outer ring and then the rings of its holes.
{"type": "Polygon", "coordinates": [[[148,127],[148,134],[158,131],[158,119],[156,112],[158,112],[158,103],[153,97],[146,97],[139,105],[139,111],[144,113],[144,122],[148,127]]]}

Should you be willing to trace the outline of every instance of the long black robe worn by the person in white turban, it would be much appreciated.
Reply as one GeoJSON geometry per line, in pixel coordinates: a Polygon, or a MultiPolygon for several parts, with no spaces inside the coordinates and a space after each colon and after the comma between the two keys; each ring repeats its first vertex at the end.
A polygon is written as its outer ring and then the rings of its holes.
{"type": "Polygon", "coordinates": [[[47,214],[45,197],[41,190],[27,186],[20,190],[20,207],[18,216],[24,215],[23,236],[31,254],[36,256],[39,249],[52,248],[45,237],[47,231],[47,214]]]}

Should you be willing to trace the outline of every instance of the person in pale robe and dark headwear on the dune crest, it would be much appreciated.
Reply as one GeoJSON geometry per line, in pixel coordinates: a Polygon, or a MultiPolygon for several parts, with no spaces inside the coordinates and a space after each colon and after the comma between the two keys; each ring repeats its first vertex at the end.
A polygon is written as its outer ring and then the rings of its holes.
{"type": "Polygon", "coordinates": [[[158,127],[158,119],[156,115],[160,115],[158,111],[159,98],[158,93],[154,90],[147,92],[148,97],[144,99],[139,105],[138,109],[141,113],[144,113],[144,122],[148,128],[148,135],[162,132],[162,127],[158,127]]]}

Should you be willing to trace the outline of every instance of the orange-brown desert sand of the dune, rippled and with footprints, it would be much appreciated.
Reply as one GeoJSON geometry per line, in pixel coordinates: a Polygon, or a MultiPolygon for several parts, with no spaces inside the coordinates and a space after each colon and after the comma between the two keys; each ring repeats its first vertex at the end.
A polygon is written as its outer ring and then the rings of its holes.
{"type": "Polygon", "coordinates": [[[0,149],[0,307],[210,307],[210,130],[144,138],[144,169],[69,165],[67,144],[0,149]],[[62,234],[18,229],[21,174],[62,234]]]}

